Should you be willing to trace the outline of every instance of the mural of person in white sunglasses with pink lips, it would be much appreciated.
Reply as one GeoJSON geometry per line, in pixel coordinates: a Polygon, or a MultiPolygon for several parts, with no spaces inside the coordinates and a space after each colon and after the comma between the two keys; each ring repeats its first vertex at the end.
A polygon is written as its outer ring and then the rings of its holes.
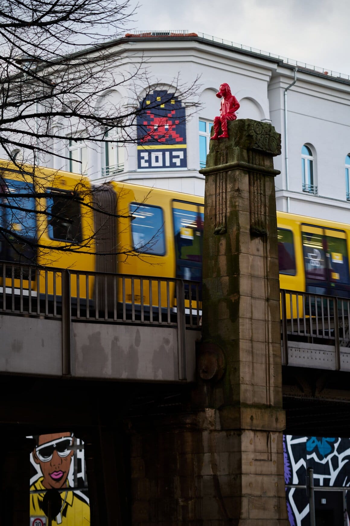
{"type": "Polygon", "coordinates": [[[42,502],[47,489],[61,490],[60,513],[53,525],[84,526],[90,523],[90,508],[85,476],[83,442],[72,433],[42,434],[33,437],[36,446],[30,453],[30,526],[46,526],[42,502]],[[75,447],[76,446],[76,447],[75,447]]]}

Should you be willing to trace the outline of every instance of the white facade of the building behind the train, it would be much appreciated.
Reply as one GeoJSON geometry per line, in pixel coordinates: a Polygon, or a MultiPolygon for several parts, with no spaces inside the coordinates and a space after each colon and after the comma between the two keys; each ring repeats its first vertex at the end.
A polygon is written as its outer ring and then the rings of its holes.
{"type": "MultiPolygon", "coordinates": [[[[294,71],[291,67],[274,63],[267,57],[238,53],[234,48],[220,48],[210,43],[190,39],[171,41],[128,40],[123,60],[111,66],[111,73],[118,74],[122,62],[125,71],[131,71],[140,60],[147,63],[147,78],[137,88],[137,99],[142,100],[146,90],[157,82],[167,86],[189,86],[198,78],[197,112],[189,105],[187,113],[187,168],[179,170],[138,170],[136,144],[126,148],[125,171],[115,179],[133,183],[203,195],[204,178],[199,168],[199,118],[212,120],[220,112],[220,100],[215,96],[219,86],[227,82],[240,102],[238,118],[253,118],[272,122],[282,135],[282,155],[274,159],[274,166],[281,170],[275,178],[277,209],[289,210],[350,223],[350,206],[345,195],[345,156],[350,152],[350,83],[337,82],[324,75],[313,75],[306,70],[297,71],[296,84],[287,92],[288,166],[289,189],[286,188],[284,90],[291,84],[294,71]],[[127,46],[130,43],[130,53],[127,46]],[[301,148],[311,145],[314,150],[315,185],[318,194],[302,191],[301,148]]],[[[103,103],[121,104],[122,110],[130,109],[134,86],[122,85],[118,90],[103,94],[103,103]]],[[[169,88],[170,89],[170,88],[169,88]]],[[[179,91],[181,97],[181,89],[179,91]]],[[[189,102],[193,103],[195,97],[189,102]]],[[[102,104],[102,99],[97,103],[102,104]]],[[[133,101],[137,107],[137,100],[133,101]]],[[[65,123],[58,123],[64,125],[65,123]]],[[[67,145],[58,141],[58,152],[67,154],[67,145]]],[[[64,161],[44,159],[55,168],[64,161]]],[[[89,151],[89,176],[101,180],[104,147],[94,145],[89,151]]],[[[68,163],[65,164],[68,168],[68,163]]]]}

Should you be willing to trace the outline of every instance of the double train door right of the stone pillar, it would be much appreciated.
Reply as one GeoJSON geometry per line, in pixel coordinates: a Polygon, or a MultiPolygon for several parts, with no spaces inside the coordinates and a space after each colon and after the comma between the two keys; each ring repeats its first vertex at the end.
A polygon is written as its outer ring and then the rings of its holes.
{"type": "Polygon", "coordinates": [[[306,292],[350,296],[349,265],[344,230],[302,227],[306,292]]]}

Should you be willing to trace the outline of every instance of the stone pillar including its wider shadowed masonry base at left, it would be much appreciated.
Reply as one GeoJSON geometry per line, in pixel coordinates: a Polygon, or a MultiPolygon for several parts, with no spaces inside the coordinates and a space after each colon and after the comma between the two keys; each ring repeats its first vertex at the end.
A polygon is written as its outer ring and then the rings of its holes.
{"type": "MultiPolygon", "coordinates": [[[[133,526],[288,526],[279,270],[267,123],[229,122],[205,174],[198,381],[130,421],[133,526]]],[[[174,389],[174,388],[173,388],[174,389]]]]}

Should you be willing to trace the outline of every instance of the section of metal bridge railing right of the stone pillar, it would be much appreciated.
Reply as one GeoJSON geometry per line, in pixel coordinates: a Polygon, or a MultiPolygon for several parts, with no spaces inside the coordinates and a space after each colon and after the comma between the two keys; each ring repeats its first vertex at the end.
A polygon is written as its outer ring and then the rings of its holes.
{"type": "Polygon", "coordinates": [[[350,299],[281,290],[281,323],[285,365],[288,341],[306,341],[334,346],[340,369],[341,348],[350,347],[350,299]]]}

